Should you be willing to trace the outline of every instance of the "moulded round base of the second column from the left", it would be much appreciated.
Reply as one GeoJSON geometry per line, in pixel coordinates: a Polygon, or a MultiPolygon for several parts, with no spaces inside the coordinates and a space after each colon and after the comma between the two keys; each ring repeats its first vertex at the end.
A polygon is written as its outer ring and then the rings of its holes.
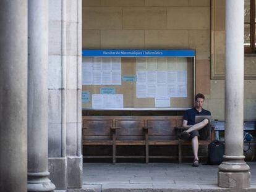
{"type": "Polygon", "coordinates": [[[28,173],[28,191],[54,191],[55,185],[48,177],[49,172],[28,173]]]}

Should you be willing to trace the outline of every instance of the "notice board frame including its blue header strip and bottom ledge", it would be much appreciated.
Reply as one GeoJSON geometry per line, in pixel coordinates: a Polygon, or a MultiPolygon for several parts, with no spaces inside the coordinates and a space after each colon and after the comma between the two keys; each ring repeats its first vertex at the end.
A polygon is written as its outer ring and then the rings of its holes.
{"type": "MultiPolygon", "coordinates": [[[[189,57],[192,58],[192,98],[195,97],[195,49],[83,49],[82,57],[189,57]]],[[[96,111],[184,111],[188,107],[123,107],[93,109],[82,107],[82,110],[96,111]]]]}

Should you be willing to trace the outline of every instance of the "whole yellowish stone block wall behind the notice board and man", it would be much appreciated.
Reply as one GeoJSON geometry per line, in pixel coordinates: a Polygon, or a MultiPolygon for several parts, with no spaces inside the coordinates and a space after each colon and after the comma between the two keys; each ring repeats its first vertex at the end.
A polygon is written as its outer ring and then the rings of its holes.
{"type": "MultiPolygon", "coordinates": [[[[83,49],[196,49],[196,92],[224,120],[223,0],[83,0],[83,49]],[[211,79],[212,78],[212,79],[211,79]]],[[[255,58],[245,57],[245,117],[256,119],[255,58]]]]}

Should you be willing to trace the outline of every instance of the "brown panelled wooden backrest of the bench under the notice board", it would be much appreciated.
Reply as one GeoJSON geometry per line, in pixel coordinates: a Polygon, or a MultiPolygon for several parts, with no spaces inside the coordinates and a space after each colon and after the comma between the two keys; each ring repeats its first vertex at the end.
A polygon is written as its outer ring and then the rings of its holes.
{"type": "Polygon", "coordinates": [[[116,140],[177,140],[176,126],[182,116],[83,116],[83,140],[112,140],[111,127],[116,127],[116,140]]]}

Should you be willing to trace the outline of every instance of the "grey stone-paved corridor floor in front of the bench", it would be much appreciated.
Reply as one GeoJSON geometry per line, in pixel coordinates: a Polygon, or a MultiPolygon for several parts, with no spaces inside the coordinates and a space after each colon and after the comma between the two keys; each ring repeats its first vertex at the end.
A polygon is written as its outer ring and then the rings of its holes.
{"type": "Polygon", "coordinates": [[[216,165],[83,164],[83,188],[74,191],[256,191],[256,162],[248,164],[251,186],[242,190],[218,188],[216,165]]]}

